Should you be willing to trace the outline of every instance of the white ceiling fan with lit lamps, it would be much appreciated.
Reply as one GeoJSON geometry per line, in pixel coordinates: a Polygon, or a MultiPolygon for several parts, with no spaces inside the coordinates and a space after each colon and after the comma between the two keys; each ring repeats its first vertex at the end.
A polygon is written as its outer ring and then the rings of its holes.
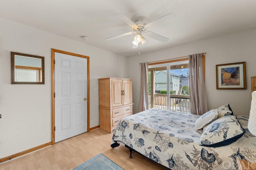
{"type": "Polygon", "coordinates": [[[136,20],[135,22],[133,22],[126,15],[120,14],[120,13],[115,14],[115,16],[119,20],[121,20],[124,23],[126,23],[127,25],[129,25],[132,28],[132,31],[127,32],[127,33],[122,33],[120,35],[115,35],[113,37],[109,37],[106,39],[107,41],[136,33],[136,36],[134,37],[134,40],[132,41],[132,44],[133,44],[132,48],[134,49],[134,48],[137,48],[140,45],[143,45],[144,43],[147,42],[147,40],[144,38],[144,35],[147,35],[148,37],[156,39],[162,43],[165,43],[169,40],[167,37],[164,37],[162,35],[159,35],[157,33],[151,32],[151,31],[147,31],[147,29],[150,28],[149,25],[153,25],[153,23],[155,23],[156,21],[159,21],[159,19],[166,20],[166,19],[168,19],[168,17],[174,16],[174,14],[172,14],[172,13],[166,14],[165,16],[162,16],[154,21],[151,21],[150,23],[145,23],[142,20],[136,20]]]}

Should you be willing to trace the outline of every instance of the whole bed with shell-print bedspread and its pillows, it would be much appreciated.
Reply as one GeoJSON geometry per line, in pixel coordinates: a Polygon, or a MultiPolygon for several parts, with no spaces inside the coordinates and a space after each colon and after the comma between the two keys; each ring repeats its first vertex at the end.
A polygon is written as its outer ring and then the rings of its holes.
{"type": "Polygon", "coordinates": [[[172,170],[237,169],[236,158],[256,163],[248,116],[221,112],[223,107],[202,116],[157,108],[136,113],[119,121],[111,147],[123,144],[172,170]],[[205,117],[208,123],[198,127],[205,117]]]}

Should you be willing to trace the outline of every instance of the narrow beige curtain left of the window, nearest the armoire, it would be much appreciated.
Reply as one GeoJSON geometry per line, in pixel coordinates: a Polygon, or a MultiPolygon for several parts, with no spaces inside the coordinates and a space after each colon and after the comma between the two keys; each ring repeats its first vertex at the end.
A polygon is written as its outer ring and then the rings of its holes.
{"type": "Polygon", "coordinates": [[[148,63],[141,63],[139,111],[144,111],[147,109],[148,109],[148,63]]]}

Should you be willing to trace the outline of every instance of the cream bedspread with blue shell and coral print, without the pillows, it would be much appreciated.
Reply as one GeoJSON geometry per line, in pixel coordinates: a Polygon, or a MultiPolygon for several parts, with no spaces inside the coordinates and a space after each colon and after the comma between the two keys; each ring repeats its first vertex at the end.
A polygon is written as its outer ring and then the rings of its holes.
{"type": "Polygon", "coordinates": [[[237,169],[236,157],[256,163],[256,137],[248,131],[247,116],[237,116],[246,133],[238,141],[217,148],[200,146],[202,129],[194,128],[198,117],[148,109],[121,119],[111,144],[128,145],[172,170],[237,169]]]}

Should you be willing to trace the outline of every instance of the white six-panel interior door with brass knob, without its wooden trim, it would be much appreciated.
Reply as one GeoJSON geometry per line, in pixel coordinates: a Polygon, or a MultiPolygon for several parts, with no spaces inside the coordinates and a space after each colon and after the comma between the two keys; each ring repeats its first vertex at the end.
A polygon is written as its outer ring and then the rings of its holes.
{"type": "Polygon", "coordinates": [[[87,60],[55,52],[55,142],[87,131],[87,60]]]}

